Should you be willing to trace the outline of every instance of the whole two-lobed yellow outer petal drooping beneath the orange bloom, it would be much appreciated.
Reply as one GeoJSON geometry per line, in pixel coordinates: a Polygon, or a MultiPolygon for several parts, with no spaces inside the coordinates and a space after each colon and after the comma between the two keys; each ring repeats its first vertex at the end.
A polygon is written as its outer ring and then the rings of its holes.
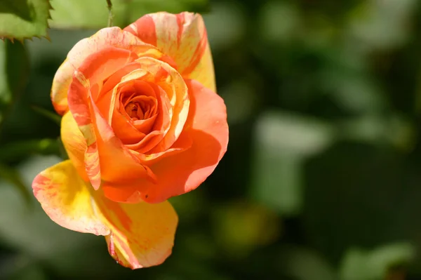
{"type": "Polygon", "coordinates": [[[62,227],[106,235],[109,253],[132,269],[159,265],[171,254],[178,217],[168,201],[123,205],[94,192],[63,161],[36,176],[36,199],[62,227]]]}

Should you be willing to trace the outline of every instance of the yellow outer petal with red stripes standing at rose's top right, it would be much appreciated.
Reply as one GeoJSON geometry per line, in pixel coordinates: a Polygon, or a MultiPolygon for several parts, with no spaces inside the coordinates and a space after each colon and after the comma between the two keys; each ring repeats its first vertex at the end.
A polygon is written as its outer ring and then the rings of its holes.
{"type": "Polygon", "coordinates": [[[201,15],[151,13],[124,30],[171,56],[185,79],[196,79],[215,91],[212,54],[201,15]]]}

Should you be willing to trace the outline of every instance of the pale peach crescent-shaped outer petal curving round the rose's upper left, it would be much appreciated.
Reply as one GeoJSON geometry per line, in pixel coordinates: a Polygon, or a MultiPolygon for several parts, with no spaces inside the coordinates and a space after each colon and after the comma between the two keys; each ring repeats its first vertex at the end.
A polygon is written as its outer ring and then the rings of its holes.
{"type": "Polygon", "coordinates": [[[102,48],[130,48],[133,45],[145,45],[136,36],[123,32],[119,27],[100,29],[93,36],[79,41],[67,54],[65,62],[59,67],[53,79],[51,100],[58,114],[67,112],[67,89],[72,83],[72,74],[83,60],[102,48]]]}

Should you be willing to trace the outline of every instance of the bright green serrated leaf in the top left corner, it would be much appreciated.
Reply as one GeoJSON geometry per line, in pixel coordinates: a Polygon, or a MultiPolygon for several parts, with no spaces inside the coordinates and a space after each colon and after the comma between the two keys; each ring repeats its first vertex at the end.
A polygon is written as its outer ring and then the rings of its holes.
{"type": "Polygon", "coordinates": [[[48,39],[48,0],[1,0],[0,37],[29,39],[44,36],[48,39]]]}

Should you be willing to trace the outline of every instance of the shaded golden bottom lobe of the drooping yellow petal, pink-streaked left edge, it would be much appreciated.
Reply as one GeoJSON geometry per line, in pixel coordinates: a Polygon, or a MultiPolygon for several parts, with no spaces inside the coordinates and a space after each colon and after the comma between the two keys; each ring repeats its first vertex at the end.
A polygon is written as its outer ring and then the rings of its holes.
{"type": "MultiPolygon", "coordinates": [[[[160,265],[173,248],[178,217],[168,201],[161,204],[116,204],[108,201],[108,251],[132,269],[160,265]],[[118,207],[116,207],[118,206],[118,207]]],[[[105,213],[105,212],[103,212],[105,213]]]]}

